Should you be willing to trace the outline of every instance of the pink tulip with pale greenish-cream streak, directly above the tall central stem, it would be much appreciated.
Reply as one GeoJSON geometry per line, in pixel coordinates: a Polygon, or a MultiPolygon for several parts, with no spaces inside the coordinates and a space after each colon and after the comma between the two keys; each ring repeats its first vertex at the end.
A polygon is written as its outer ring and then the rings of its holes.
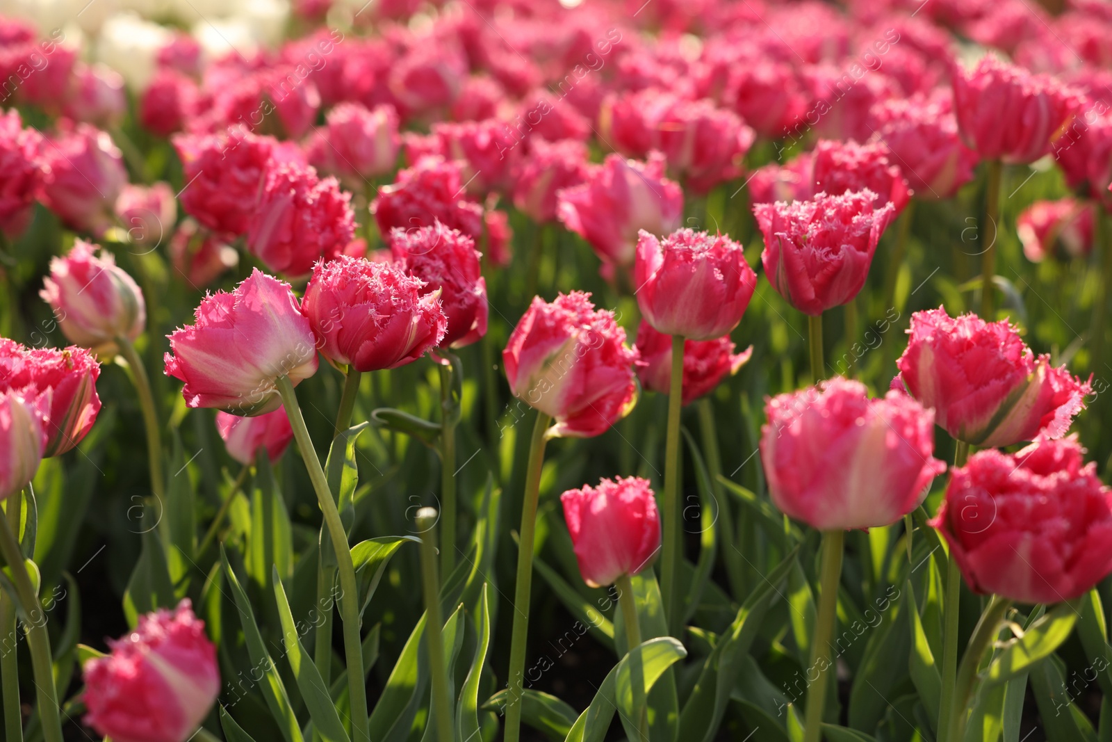
{"type": "Polygon", "coordinates": [[[556,421],[552,435],[600,435],[637,399],[637,352],[625,340],[614,313],[595,309],[589,294],[535,297],[502,353],[509,388],[556,421]]]}

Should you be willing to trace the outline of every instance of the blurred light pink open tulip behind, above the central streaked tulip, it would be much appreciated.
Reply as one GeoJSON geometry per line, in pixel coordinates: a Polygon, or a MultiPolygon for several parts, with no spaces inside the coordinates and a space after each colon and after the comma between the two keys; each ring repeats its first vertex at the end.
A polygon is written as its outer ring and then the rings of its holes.
{"type": "Polygon", "coordinates": [[[679,227],[684,209],[683,191],[664,177],[658,152],[646,162],[607,155],[590,167],[585,184],[559,191],[557,201],[560,221],[616,266],[633,264],[642,229],[667,235],[679,227]]]}

